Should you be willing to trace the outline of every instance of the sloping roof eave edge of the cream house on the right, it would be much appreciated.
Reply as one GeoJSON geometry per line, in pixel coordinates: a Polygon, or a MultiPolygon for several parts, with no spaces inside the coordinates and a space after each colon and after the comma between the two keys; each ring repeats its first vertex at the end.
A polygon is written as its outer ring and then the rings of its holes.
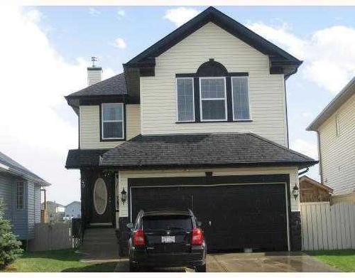
{"type": "Polygon", "coordinates": [[[355,77],[339,92],[334,99],[320,112],[320,114],[306,128],[307,131],[316,132],[317,129],[341,107],[346,100],[355,94],[355,77]]]}

